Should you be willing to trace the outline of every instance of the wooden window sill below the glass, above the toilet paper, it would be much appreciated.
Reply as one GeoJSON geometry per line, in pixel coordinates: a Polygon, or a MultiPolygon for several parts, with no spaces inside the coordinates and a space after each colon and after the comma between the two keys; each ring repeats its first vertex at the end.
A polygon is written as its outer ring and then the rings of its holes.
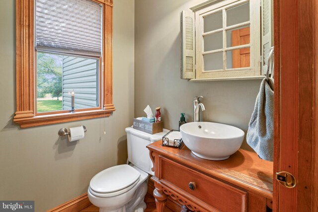
{"type": "Polygon", "coordinates": [[[75,113],[61,113],[42,116],[32,116],[32,111],[27,111],[28,113],[16,112],[13,121],[19,124],[21,128],[28,128],[65,122],[74,122],[86,119],[108,117],[113,113],[113,111],[115,111],[114,105],[107,105],[105,110],[91,110],[75,113]]]}

